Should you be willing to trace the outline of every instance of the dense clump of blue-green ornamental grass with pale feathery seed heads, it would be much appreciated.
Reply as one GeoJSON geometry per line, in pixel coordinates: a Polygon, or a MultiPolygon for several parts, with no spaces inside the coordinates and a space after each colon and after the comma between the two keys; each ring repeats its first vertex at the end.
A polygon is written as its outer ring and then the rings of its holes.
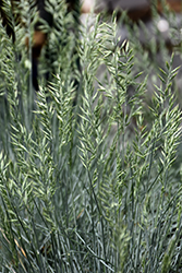
{"type": "Polygon", "coordinates": [[[32,23],[17,26],[15,45],[0,33],[0,271],[180,272],[173,56],[158,70],[148,119],[148,74],[132,43],[117,46],[114,16],[76,40],[63,3],[53,15],[54,75],[45,82],[43,55],[36,94],[23,47],[32,23]]]}

